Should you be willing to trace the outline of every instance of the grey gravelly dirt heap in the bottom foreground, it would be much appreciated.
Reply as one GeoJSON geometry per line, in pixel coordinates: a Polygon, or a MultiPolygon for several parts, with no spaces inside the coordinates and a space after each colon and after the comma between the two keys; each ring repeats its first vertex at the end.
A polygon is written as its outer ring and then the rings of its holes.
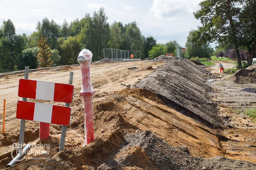
{"type": "Polygon", "coordinates": [[[256,165],[245,161],[234,161],[222,156],[211,159],[195,157],[179,148],[163,142],[150,131],[129,133],[117,151],[109,154],[114,159],[104,160],[100,166],[118,169],[121,165],[137,166],[143,169],[199,170],[232,169],[253,170],[256,165]],[[136,158],[136,159],[135,159],[136,158]],[[231,164],[232,163],[232,164],[231,164]]]}

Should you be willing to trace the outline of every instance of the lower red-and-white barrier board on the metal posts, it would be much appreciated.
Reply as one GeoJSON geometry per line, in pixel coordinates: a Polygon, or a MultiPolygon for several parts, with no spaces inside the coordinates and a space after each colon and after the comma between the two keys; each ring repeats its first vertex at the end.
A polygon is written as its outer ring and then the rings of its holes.
{"type": "Polygon", "coordinates": [[[17,102],[16,118],[37,122],[69,125],[70,107],[34,103],[28,101],[17,102]]]}

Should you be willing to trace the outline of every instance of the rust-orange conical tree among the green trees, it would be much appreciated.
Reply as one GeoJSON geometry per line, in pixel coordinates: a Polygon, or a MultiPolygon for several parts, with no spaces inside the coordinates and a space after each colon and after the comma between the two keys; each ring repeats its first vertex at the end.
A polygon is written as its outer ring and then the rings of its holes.
{"type": "Polygon", "coordinates": [[[41,39],[38,41],[38,54],[36,58],[38,59],[38,67],[51,67],[53,61],[51,59],[50,48],[47,45],[47,39],[42,35],[41,39]]]}

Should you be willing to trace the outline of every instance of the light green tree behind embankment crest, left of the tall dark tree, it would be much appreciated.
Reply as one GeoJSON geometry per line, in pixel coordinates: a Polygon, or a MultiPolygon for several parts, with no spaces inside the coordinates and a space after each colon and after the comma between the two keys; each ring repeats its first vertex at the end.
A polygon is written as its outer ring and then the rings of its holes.
{"type": "Polygon", "coordinates": [[[209,58],[210,53],[208,50],[208,45],[197,45],[196,42],[193,41],[193,36],[194,36],[195,30],[189,31],[189,36],[187,37],[187,42],[185,43],[186,46],[186,52],[185,56],[187,58],[191,57],[199,57],[199,58],[209,58]]]}

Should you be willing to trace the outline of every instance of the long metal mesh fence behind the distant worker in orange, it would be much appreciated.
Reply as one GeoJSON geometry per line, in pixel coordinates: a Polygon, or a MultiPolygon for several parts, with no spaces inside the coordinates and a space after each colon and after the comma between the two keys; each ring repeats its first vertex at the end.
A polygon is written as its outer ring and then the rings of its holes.
{"type": "Polygon", "coordinates": [[[131,51],[131,50],[119,50],[114,48],[104,48],[104,58],[109,59],[131,59],[133,54],[134,59],[141,59],[141,51],[131,51]]]}

